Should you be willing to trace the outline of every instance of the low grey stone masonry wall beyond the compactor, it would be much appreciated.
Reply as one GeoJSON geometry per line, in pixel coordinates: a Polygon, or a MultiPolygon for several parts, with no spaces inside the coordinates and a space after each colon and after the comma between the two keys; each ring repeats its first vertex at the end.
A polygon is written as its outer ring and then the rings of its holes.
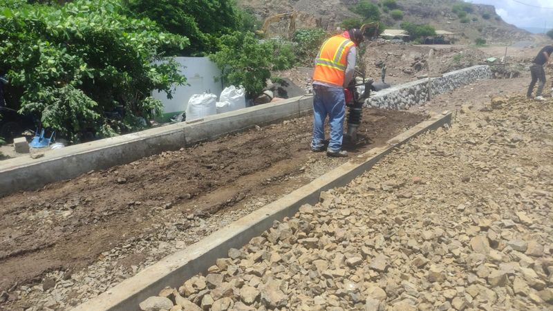
{"type": "MultiPolygon", "coordinates": [[[[471,84],[478,79],[490,79],[491,69],[481,65],[445,73],[442,77],[431,78],[431,97],[453,91],[460,86],[471,84]]],[[[373,93],[366,106],[383,109],[409,109],[427,102],[428,78],[408,82],[373,93]]]]}

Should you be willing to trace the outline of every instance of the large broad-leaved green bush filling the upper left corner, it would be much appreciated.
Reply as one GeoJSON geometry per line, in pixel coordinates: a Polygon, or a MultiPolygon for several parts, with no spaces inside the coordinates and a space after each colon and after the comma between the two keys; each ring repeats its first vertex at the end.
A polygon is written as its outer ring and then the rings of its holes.
{"type": "Polygon", "coordinates": [[[10,0],[0,23],[0,72],[22,94],[20,111],[73,141],[87,131],[102,136],[106,126],[114,133],[133,129],[132,120],[160,113],[151,91],[170,96],[171,85],[186,81],[176,62],[153,61],[163,50],[184,48],[188,39],[122,15],[115,0],[64,6],[10,0]],[[124,111],[124,120],[106,115],[115,109],[124,111]]]}

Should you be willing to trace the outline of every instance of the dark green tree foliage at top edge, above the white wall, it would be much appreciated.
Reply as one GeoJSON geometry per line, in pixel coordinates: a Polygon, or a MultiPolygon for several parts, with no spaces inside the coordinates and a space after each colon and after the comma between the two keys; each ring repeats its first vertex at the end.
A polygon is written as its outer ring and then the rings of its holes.
{"type": "Polygon", "coordinates": [[[241,12],[232,0],[124,1],[128,15],[147,17],[156,21],[162,30],[189,38],[191,44],[182,51],[183,55],[214,53],[221,35],[228,35],[243,26],[241,12]]]}

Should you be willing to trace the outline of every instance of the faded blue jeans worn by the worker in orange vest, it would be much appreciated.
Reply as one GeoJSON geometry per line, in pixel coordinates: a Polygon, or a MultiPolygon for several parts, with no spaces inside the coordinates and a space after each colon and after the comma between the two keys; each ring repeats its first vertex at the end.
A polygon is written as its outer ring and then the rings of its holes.
{"type": "Polygon", "coordinates": [[[324,147],[324,120],[328,115],[330,123],[330,142],[326,151],[338,152],[344,138],[344,116],[346,115],[346,98],[344,88],[313,86],[313,140],[312,149],[324,147]]]}

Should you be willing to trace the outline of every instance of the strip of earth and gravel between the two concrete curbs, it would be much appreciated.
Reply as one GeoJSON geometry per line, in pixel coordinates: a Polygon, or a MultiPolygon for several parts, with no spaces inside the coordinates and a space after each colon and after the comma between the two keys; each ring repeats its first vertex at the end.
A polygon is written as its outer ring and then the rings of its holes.
{"type": "MultiPolygon", "coordinates": [[[[422,120],[365,109],[346,150],[355,156],[422,120]]],[[[311,129],[309,116],[256,126],[0,198],[0,308],[75,305],[346,161],[312,153],[311,129]]]]}

